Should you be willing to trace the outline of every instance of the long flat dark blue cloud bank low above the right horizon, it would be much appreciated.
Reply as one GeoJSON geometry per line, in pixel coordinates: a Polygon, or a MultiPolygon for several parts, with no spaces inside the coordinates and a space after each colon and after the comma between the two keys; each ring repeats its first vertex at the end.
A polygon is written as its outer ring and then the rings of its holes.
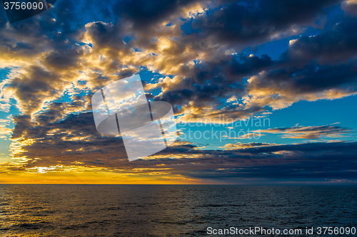
{"type": "MultiPolygon", "coordinates": [[[[174,174],[219,182],[356,180],[357,142],[266,145],[229,151],[202,151],[192,144],[169,147],[160,154],[201,154],[198,158],[137,160],[136,165],[164,165],[174,174]],[[177,153],[178,152],[178,153],[177,153]]],[[[130,167],[127,167],[130,169],[130,167]]]]}

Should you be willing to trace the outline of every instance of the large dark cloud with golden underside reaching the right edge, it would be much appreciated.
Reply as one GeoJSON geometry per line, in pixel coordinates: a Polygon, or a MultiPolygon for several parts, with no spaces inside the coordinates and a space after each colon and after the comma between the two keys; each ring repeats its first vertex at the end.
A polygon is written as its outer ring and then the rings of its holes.
{"type": "Polygon", "coordinates": [[[298,100],[342,98],[357,92],[356,19],[332,30],[301,36],[271,68],[254,75],[246,88],[249,105],[281,108],[298,100]],[[254,97],[258,94],[259,96],[254,97]]]}

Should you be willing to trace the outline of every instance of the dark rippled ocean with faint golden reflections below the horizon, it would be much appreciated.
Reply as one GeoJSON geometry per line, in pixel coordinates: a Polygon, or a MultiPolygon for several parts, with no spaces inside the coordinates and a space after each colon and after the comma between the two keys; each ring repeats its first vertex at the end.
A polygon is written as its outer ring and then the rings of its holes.
{"type": "Polygon", "coordinates": [[[311,236],[306,228],[319,226],[357,228],[357,186],[0,185],[1,236],[223,236],[257,227],[302,230],[263,236],[311,236]]]}

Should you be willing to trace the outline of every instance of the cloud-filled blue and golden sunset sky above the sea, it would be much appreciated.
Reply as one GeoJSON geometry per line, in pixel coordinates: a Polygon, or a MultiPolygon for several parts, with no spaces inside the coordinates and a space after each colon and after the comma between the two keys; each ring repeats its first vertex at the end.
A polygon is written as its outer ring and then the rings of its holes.
{"type": "Polygon", "coordinates": [[[357,1],[0,11],[0,184],[357,184],[357,1]],[[91,96],[139,74],[178,139],[128,161],[91,96]]]}

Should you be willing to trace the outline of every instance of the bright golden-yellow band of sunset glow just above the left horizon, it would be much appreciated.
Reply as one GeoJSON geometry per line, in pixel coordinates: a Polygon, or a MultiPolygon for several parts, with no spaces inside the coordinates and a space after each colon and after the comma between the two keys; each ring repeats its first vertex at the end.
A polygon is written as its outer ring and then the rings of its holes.
{"type": "Polygon", "coordinates": [[[34,167],[0,172],[0,184],[203,184],[166,169],[116,171],[89,167],[34,167]]]}

